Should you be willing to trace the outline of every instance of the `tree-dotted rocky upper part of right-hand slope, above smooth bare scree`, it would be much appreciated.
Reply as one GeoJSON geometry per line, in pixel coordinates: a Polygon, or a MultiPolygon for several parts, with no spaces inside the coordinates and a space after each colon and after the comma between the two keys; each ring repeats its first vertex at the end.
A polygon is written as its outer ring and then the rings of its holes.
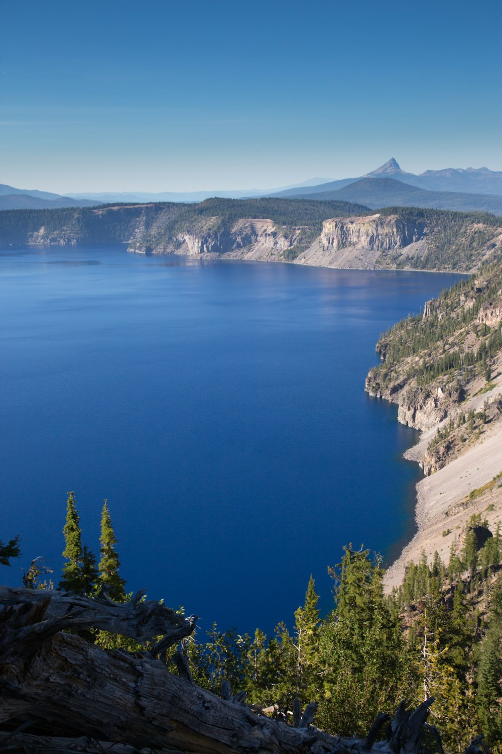
{"type": "Polygon", "coordinates": [[[493,381],[502,363],[502,259],[400,320],[376,350],[382,363],[370,369],[367,391],[398,403],[403,421],[412,421],[413,407],[415,417],[428,411],[443,421],[429,442],[424,470],[434,472],[466,452],[502,421],[493,381]]]}

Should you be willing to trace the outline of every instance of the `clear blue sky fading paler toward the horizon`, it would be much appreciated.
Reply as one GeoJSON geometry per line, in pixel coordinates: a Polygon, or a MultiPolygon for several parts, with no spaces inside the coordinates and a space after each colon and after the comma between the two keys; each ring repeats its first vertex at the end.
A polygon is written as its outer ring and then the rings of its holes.
{"type": "Polygon", "coordinates": [[[502,170],[502,4],[0,0],[0,182],[275,187],[502,170]]]}

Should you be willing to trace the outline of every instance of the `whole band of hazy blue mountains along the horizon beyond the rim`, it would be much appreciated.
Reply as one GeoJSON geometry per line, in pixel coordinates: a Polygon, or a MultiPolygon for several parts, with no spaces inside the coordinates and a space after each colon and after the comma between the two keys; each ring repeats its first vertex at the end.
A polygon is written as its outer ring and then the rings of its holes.
{"type": "Polygon", "coordinates": [[[237,189],[196,192],[96,192],[58,195],[37,189],[15,189],[0,184],[0,210],[90,207],[113,202],[200,202],[207,198],[333,199],[380,208],[485,211],[502,215],[502,171],[487,167],[425,170],[415,175],[402,170],[394,158],[364,176],[329,180],[312,178],[282,189],[237,189]]]}

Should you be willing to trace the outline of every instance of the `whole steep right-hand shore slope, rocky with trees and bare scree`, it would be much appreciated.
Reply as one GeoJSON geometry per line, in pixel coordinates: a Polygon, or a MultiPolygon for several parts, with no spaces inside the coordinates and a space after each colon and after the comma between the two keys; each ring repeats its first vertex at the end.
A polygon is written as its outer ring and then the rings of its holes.
{"type": "Polygon", "coordinates": [[[376,348],[382,363],[366,390],[397,404],[397,419],[421,431],[406,458],[417,461],[418,532],[386,575],[400,584],[423,550],[444,562],[476,514],[502,523],[502,260],[426,302],[423,314],[391,328],[376,348]]]}

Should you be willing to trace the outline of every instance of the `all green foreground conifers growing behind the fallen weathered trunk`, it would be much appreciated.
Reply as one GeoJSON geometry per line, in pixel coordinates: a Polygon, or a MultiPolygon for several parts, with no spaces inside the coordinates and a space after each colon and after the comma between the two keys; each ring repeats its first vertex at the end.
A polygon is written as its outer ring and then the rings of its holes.
{"type": "MultiPolygon", "coordinates": [[[[196,633],[193,618],[185,630],[184,610],[178,608],[173,615],[181,621],[181,646],[176,650],[177,642],[171,642],[166,648],[169,670],[224,698],[234,698],[228,696],[230,688],[234,694],[239,691],[239,703],[246,698],[251,710],[266,710],[291,725],[298,725],[297,706],[303,710],[315,701],[315,725],[348,737],[364,737],[382,710],[394,713],[403,699],[413,707],[434,697],[431,722],[448,754],[464,751],[479,734],[500,752],[502,538],[497,529],[481,544],[474,527],[483,522],[471,523],[449,562],[439,555],[429,563],[422,557],[410,564],[400,589],[387,596],[379,556],[364,547],[345,547],[341,561],[328,569],[332,611],[320,614],[311,577],[302,605],[294,616],[284,616],[273,636],[260,628],[249,636],[215,625],[207,634],[196,633]]],[[[56,588],[96,599],[105,589],[107,599],[125,602],[126,584],[119,575],[117,538],[106,501],[97,565],[82,542],[73,493],[68,495],[63,533],[65,565],[56,588]]],[[[2,546],[3,562],[19,556],[19,544],[12,540],[2,546]]],[[[44,561],[35,559],[23,584],[35,593],[53,588],[52,578],[44,561]]],[[[2,616],[5,624],[11,613],[4,610],[2,616]]],[[[89,645],[114,652],[113,657],[147,657],[157,647],[156,642],[132,638],[135,633],[120,636],[119,631],[117,636],[117,630],[99,627],[78,633],[89,645]]],[[[8,694],[4,689],[2,698],[8,694]]],[[[23,719],[14,716],[13,721],[20,724],[23,719]]],[[[42,723],[35,720],[32,725],[36,731],[42,723]]],[[[434,740],[429,746],[440,751],[434,740]]]]}

